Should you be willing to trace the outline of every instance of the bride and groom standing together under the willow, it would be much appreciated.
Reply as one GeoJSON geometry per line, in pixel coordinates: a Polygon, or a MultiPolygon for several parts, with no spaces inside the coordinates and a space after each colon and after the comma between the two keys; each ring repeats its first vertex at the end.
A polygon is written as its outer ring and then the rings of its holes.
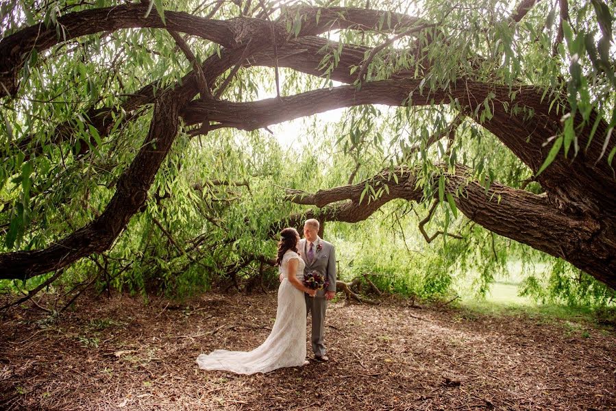
{"type": "Polygon", "coordinates": [[[319,221],[306,220],[304,239],[297,230],[280,232],[278,258],[280,271],[278,308],[271,333],[253,351],[217,349],[197,358],[200,369],[232,371],[238,374],[267,373],[306,361],[306,315],[312,314],[312,351],[315,359],[328,361],[323,345],[323,325],[327,301],[336,293],[336,254],[334,246],[318,236],[319,221]],[[302,282],[304,272],[317,271],[327,278],[326,290],[311,290],[302,282]]]}

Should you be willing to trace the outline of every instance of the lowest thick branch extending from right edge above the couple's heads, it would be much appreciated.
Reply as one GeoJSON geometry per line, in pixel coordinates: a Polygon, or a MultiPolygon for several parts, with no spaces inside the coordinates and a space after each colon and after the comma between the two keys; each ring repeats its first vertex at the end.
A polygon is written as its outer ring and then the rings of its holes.
{"type": "MultiPolygon", "coordinates": [[[[391,171],[385,170],[354,186],[319,190],[312,195],[304,193],[299,196],[298,192],[290,192],[291,197],[287,197],[289,201],[320,208],[293,216],[291,222],[314,217],[356,223],[395,199],[426,200],[423,190],[416,187],[417,177],[412,169],[398,168],[395,173],[397,182],[391,171]],[[366,184],[373,185],[375,190],[378,184],[386,184],[389,192],[382,191],[377,199],[360,201],[366,184]]],[[[545,195],[534,195],[497,182],[492,182],[486,190],[481,182],[473,180],[471,171],[461,164],[455,167],[454,173],[443,173],[447,177],[446,192],[454,196],[458,210],[471,221],[491,232],[563,258],[616,288],[616,276],[613,275],[616,273],[616,260],[613,254],[602,251],[606,245],[613,244],[613,239],[602,230],[600,221],[590,216],[565,214],[554,208],[545,195]]],[[[439,174],[435,174],[434,183],[438,179],[439,174]]]]}

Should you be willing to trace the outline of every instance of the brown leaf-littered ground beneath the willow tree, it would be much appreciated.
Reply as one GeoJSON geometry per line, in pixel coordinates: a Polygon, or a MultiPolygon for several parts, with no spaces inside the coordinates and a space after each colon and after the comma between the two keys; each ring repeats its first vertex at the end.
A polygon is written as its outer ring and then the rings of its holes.
{"type": "Polygon", "coordinates": [[[275,305],[275,292],[182,305],[90,295],[60,321],[13,308],[0,325],[0,409],[616,409],[613,329],[394,298],[330,303],[328,363],[251,376],[197,369],[201,352],[259,345],[275,305]]]}

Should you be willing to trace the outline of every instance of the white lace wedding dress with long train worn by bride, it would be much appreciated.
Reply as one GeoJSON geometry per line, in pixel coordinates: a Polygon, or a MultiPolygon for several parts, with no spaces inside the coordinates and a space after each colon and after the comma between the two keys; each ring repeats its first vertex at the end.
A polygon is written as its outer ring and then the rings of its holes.
{"type": "Polygon", "coordinates": [[[197,357],[204,370],[232,371],[238,374],[267,373],[286,366],[304,365],[306,359],[306,300],[301,292],[288,282],[288,261],[299,260],[297,278],[304,279],[304,260],[288,250],[282,257],[280,272],[284,279],[278,287],[276,320],[267,340],[252,351],[217,349],[197,357]]]}

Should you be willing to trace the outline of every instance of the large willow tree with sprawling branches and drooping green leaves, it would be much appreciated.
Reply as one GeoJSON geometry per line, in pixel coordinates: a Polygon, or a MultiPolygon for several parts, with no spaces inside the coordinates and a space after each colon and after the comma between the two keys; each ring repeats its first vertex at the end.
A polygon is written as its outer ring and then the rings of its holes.
{"type": "MultiPolygon", "coordinates": [[[[205,231],[187,249],[170,229],[199,216],[155,210],[195,192],[210,211],[230,201],[221,192],[247,195],[247,182],[225,179],[230,151],[217,142],[230,130],[243,131],[233,134],[241,151],[243,140],[263,136],[250,132],[347,108],[330,136],[347,159],[347,185],[288,190],[286,201],[315,206],[292,220],[353,223],[393,199],[417,202],[426,207],[424,233],[439,212],[445,233],[480,225],[615,288],[616,10],[609,7],[602,0],[2,3],[0,279],[60,272],[126,247],[116,241],[144,214],[178,255],[236,244],[237,236],[208,237],[214,227],[238,236],[241,229],[206,213],[205,231]],[[275,97],[257,100],[264,89],[275,97]],[[203,175],[193,175],[178,188],[183,162],[197,155],[209,156],[205,165],[220,160],[219,179],[197,184],[203,175]]],[[[258,157],[258,145],[246,147],[238,163],[258,157]]],[[[288,166],[280,161],[253,175],[280,173],[288,166]]],[[[245,213],[234,214],[236,225],[278,227],[280,216],[266,206],[245,213]]],[[[188,254],[187,266],[199,263],[188,254]]]]}

